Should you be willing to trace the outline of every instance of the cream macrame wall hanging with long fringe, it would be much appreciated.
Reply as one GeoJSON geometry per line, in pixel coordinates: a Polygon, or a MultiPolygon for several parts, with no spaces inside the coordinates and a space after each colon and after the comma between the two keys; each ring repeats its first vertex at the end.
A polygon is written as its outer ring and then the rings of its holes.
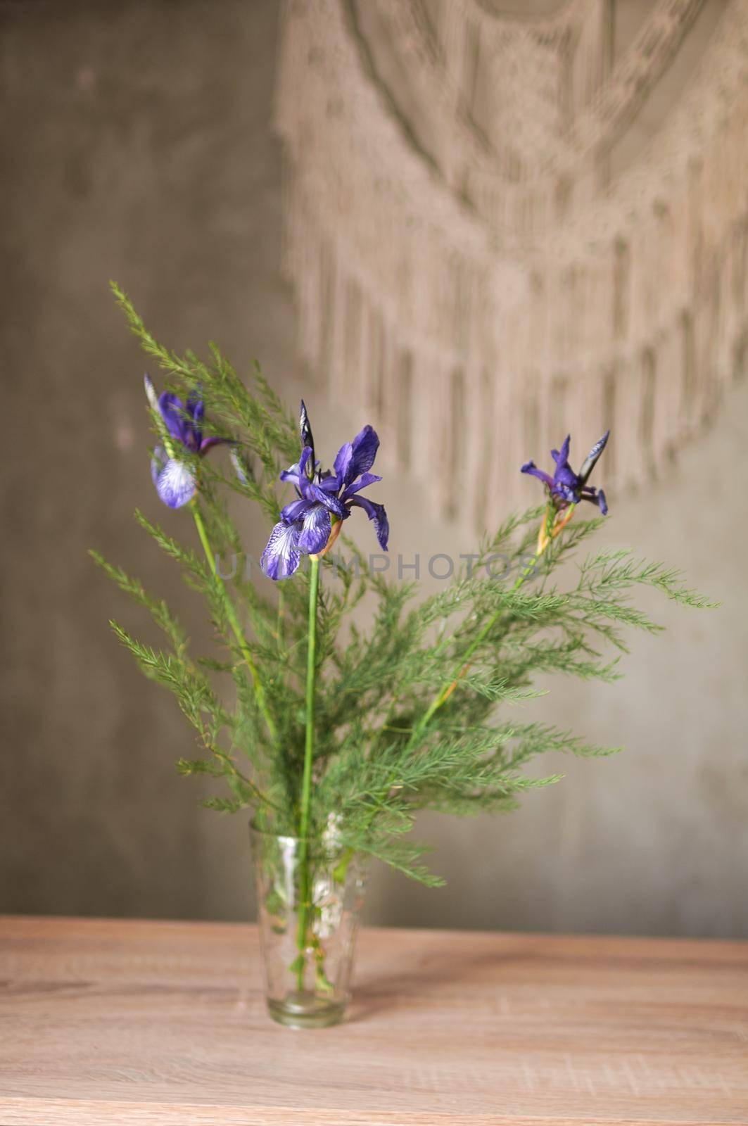
{"type": "Polygon", "coordinates": [[[651,480],[742,369],[748,0],[719,6],[626,149],[705,7],[653,0],[614,61],[612,0],[546,18],[288,0],[276,122],[303,355],[439,515],[492,522],[567,430],[614,428],[611,491],[651,480]]]}

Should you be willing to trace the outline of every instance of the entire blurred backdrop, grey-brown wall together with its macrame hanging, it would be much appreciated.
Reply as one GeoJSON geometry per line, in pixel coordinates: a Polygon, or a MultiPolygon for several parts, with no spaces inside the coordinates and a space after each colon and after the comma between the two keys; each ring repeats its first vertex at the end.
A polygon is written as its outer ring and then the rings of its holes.
{"type": "Polygon", "coordinates": [[[253,911],[246,822],[177,777],[189,731],[86,554],[204,634],[132,520],[192,535],[116,278],[333,448],[376,426],[394,557],[469,552],[537,500],[524,461],[611,426],[599,543],[723,602],[649,600],[617,685],[549,679],[528,713],[625,752],[424,817],[447,887],[376,868],[369,922],[748,936],[745,0],[6,0],[0,52],[0,910],[253,911]]]}

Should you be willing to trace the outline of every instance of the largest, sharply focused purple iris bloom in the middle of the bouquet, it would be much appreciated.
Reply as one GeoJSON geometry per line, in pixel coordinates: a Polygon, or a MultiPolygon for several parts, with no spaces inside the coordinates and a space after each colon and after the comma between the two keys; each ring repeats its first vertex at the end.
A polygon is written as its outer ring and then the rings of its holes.
{"type": "Polygon", "coordinates": [[[368,472],[380,445],[376,432],[365,426],[353,441],[340,447],[332,472],[321,473],[320,463],[314,461],[314,441],[303,400],[300,431],[301,457],[280,474],[282,481],[295,486],[296,500],[282,510],[260,558],[265,574],[275,580],[292,575],[302,555],[323,552],[333,528],[350,516],[354,506],[363,508],[374,521],[380,546],[388,549],[390,525],[384,506],[359,495],[363,489],[382,480],[368,472]]]}

